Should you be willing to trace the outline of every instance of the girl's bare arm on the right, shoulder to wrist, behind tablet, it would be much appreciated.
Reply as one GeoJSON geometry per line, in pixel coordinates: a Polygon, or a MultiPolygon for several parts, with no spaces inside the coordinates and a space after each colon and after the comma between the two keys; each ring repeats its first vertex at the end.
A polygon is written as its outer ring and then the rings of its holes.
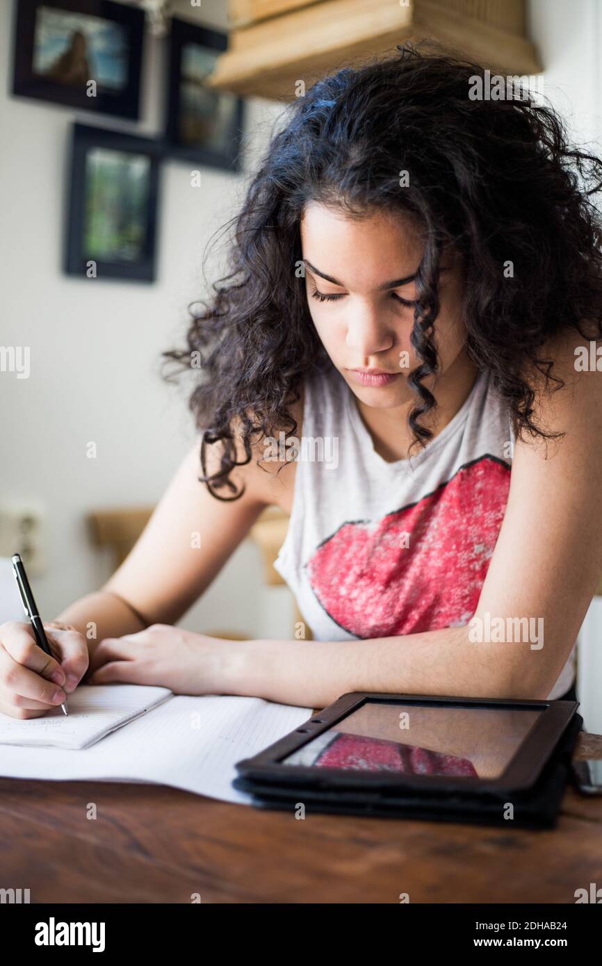
{"type": "MultiPolygon", "coordinates": [[[[547,347],[564,388],[537,395],[559,440],[517,441],[500,536],[474,617],[531,619],[529,639],[474,641],[472,625],[354,641],[256,640],[237,648],[233,694],[324,707],[349,691],[545,699],[602,573],[602,374],[576,372],[578,336],[547,347]]],[[[525,621],[523,620],[523,626],[525,621]]]]}

